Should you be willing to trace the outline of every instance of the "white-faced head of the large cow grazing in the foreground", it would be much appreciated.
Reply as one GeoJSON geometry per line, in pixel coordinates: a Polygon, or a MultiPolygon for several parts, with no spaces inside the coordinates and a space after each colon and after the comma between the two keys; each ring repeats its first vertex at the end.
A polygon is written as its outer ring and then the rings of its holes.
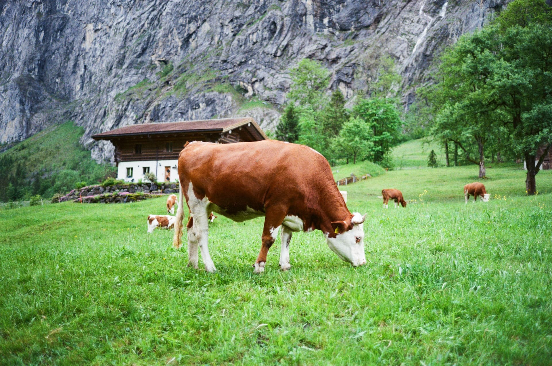
{"type": "Polygon", "coordinates": [[[328,247],[332,252],[345,262],[353,264],[354,267],[366,263],[364,255],[364,229],[362,223],[366,215],[360,216],[353,213],[353,217],[347,221],[332,221],[332,229],[336,237],[326,236],[328,247]]]}

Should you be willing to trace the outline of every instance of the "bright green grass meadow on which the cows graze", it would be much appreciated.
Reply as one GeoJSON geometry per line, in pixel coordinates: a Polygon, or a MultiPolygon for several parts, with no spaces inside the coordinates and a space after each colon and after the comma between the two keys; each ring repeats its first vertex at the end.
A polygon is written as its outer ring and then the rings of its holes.
{"type": "Polygon", "coordinates": [[[278,238],[261,275],[262,218],[210,224],[209,274],[172,231],[147,234],[164,198],[1,210],[0,363],[552,364],[552,171],[534,197],[524,174],[489,167],[491,200],[468,205],[477,166],[348,185],[368,263],[315,231],[294,234],[287,272],[278,238]],[[412,203],[384,209],[382,188],[412,203]]]}

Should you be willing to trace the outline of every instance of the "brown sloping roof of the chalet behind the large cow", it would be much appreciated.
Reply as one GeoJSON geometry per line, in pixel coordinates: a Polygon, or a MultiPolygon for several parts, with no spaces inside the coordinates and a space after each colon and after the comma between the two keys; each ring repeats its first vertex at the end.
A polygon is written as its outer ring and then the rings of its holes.
{"type": "Polygon", "coordinates": [[[94,140],[111,140],[114,137],[135,136],[135,135],[156,135],[156,134],[176,134],[189,132],[220,132],[221,134],[238,128],[240,126],[251,124],[259,135],[260,140],[268,139],[263,130],[251,117],[243,118],[220,118],[204,119],[196,121],[178,121],[168,123],[144,123],[130,126],[124,126],[115,130],[102,132],[92,135],[94,140]]]}

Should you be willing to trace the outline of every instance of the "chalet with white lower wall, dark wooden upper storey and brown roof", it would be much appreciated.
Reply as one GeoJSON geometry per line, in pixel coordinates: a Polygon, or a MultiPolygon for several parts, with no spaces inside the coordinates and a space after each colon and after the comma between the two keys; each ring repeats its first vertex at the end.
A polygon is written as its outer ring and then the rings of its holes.
{"type": "Polygon", "coordinates": [[[155,173],[158,182],[174,182],[178,178],[178,154],[186,141],[229,144],[268,137],[246,117],[137,124],[96,134],[92,139],[109,140],[115,146],[118,179],[137,182],[145,173],[155,173]]]}

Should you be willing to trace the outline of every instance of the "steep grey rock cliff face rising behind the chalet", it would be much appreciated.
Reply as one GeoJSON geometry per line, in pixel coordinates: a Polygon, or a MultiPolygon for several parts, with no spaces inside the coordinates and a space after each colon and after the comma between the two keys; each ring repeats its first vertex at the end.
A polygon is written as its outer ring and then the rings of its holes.
{"type": "MultiPolygon", "coordinates": [[[[445,45],[507,0],[0,0],[0,142],[74,120],[90,136],[124,125],[253,116],[274,130],[305,57],[347,98],[364,60],[390,55],[405,104],[445,45]]],[[[369,71],[368,71],[369,72],[369,71]]]]}

